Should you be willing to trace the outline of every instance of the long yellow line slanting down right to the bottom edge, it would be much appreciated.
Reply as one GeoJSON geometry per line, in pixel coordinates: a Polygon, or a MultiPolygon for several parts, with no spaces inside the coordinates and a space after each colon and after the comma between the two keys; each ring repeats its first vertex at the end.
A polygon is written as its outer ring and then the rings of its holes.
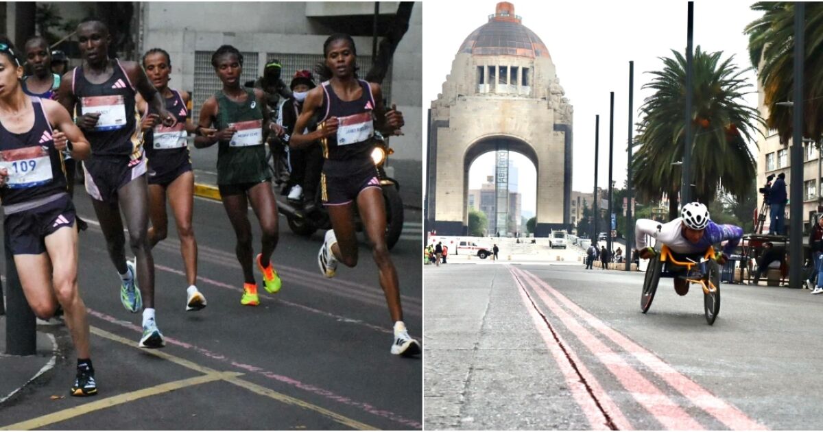
{"type": "MultiPolygon", "coordinates": [[[[120,337],[120,336],[118,336],[114,333],[106,332],[105,330],[102,330],[102,329],[97,328],[97,327],[90,326],[90,329],[91,329],[91,333],[93,333],[97,336],[105,337],[106,339],[109,339],[110,341],[119,342],[119,343],[122,343],[123,345],[134,346],[134,341],[130,341],[130,340],[126,339],[125,337],[120,337]]],[[[171,361],[171,362],[173,362],[177,365],[184,366],[188,369],[197,370],[198,372],[200,372],[202,374],[220,374],[220,372],[216,369],[207,368],[206,366],[198,365],[198,364],[196,364],[192,361],[182,359],[182,358],[180,358],[176,355],[171,355],[171,354],[163,352],[163,351],[157,351],[157,350],[143,350],[143,351],[146,352],[146,354],[156,355],[157,357],[160,357],[160,358],[165,359],[165,360],[169,360],[169,361],[171,361]]],[[[283,393],[275,392],[274,390],[272,390],[270,388],[265,388],[265,387],[260,386],[258,384],[250,383],[249,381],[246,381],[244,379],[237,378],[240,375],[242,375],[242,374],[237,374],[234,377],[226,378],[225,380],[229,383],[232,383],[232,384],[235,384],[239,387],[250,390],[253,393],[258,393],[258,394],[266,396],[266,397],[271,397],[272,399],[275,399],[279,402],[283,402],[283,403],[286,403],[286,404],[289,404],[289,405],[294,405],[294,406],[300,406],[301,408],[305,408],[307,410],[317,412],[322,416],[326,416],[329,419],[335,420],[335,421],[337,421],[337,423],[340,423],[341,425],[351,427],[352,429],[356,429],[356,430],[377,430],[377,428],[375,428],[374,426],[366,425],[365,423],[360,423],[357,420],[352,420],[352,419],[350,419],[346,416],[342,416],[340,414],[337,414],[334,411],[329,411],[326,408],[323,408],[322,406],[317,406],[317,405],[314,405],[313,403],[305,402],[305,401],[302,401],[302,400],[297,399],[295,397],[291,397],[291,396],[287,396],[283,393]]]]}

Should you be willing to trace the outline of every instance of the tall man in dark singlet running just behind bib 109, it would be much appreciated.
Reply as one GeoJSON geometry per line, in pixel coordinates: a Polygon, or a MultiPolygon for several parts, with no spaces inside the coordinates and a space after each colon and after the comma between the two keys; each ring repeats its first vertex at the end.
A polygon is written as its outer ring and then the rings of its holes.
{"type": "Polygon", "coordinates": [[[91,142],[92,156],[83,163],[86,192],[93,198],[109,258],[122,281],[120,301],[129,312],[137,313],[143,307],[143,335],[138,345],[159,348],[165,341],[155,319],[154,260],[146,234],[146,157],[138,139],[134,95],[139,92],[149,101],[166,126],[174,126],[177,120],[165,110],[160,93],[139,64],[109,59],[111,35],[105,24],[81,22],[77,39],[83,63],[63,77],[60,103],[70,111],[77,109],[77,125],[91,142]],[[126,261],[121,210],[135,262],[126,261]]]}

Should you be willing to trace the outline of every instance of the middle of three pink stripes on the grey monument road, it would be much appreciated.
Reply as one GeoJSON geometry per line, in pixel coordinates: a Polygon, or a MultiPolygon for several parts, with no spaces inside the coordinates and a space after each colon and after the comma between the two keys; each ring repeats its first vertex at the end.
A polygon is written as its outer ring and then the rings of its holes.
{"type": "MultiPolygon", "coordinates": [[[[515,268],[513,268],[512,271],[518,274],[518,276],[523,276],[527,281],[531,281],[532,288],[537,287],[534,281],[531,280],[534,279],[533,276],[528,276],[525,272],[515,268]]],[[[552,300],[544,290],[536,289],[535,292],[541,300],[543,300],[543,304],[546,304],[565,327],[567,327],[570,332],[573,332],[574,336],[583,342],[593,355],[601,360],[602,364],[606,366],[611,374],[621,383],[621,386],[635,398],[640,406],[643,406],[646,411],[649,411],[664,428],[668,430],[705,429],[703,425],[700,425],[695,419],[691,418],[686,411],[683,411],[680,404],[672,401],[663,391],[655,387],[648,379],[645,379],[639,371],[628,365],[625,360],[620,359],[611,348],[580,325],[574,317],[560,308],[560,305],[552,300]],[[608,360],[611,361],[604,361],[604,356],[607,356],[608,360]],[[615,361],[618,359],[622,361],[615,361]]]]}

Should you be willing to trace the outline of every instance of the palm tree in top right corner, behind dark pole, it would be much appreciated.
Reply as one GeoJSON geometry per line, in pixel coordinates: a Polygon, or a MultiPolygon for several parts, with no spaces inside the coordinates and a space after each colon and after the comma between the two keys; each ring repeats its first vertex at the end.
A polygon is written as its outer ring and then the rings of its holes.
{"type": "MultiPolygon", "coordinates": [[[[769,108],[766,125],[777,129],[780,142],[792,137],[792,109],[775,106],[790,100],[794,86],[794,3],[756,2],[764,12],[746,26],[752,66],[759,69],[764,105],[769,108]]],[[[823,134],[823,3],[806,3],[806,56],[803,71],[803,137],[821,141],[823,134]]]]}

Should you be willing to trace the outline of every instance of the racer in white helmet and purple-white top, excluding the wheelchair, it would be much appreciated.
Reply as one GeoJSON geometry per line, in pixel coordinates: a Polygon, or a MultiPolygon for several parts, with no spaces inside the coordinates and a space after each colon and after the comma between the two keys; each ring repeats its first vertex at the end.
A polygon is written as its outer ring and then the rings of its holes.
{"type": "MultiPolygon", "coordinates": [[[[718,264],[728,260],[729,253],[737,247],[743,236],[743,229],[736,225],[718,225],[709,219],[709,209],[700,202],[690,202],[683,206],[680,217],[666,224],[651,219],[639,219],[635,224],[635,244],[637,253],[643,259],[652,258],[657,252],[646,244],[646,236],[666,244],[673,253],[689,255],[705,253],[712,244],[728,240],[723,252],[714,257],[718,264]]],[[[689,282],[680,277],[674,279],[674,289],[678,295],[689,292],[689,282]]]]}

